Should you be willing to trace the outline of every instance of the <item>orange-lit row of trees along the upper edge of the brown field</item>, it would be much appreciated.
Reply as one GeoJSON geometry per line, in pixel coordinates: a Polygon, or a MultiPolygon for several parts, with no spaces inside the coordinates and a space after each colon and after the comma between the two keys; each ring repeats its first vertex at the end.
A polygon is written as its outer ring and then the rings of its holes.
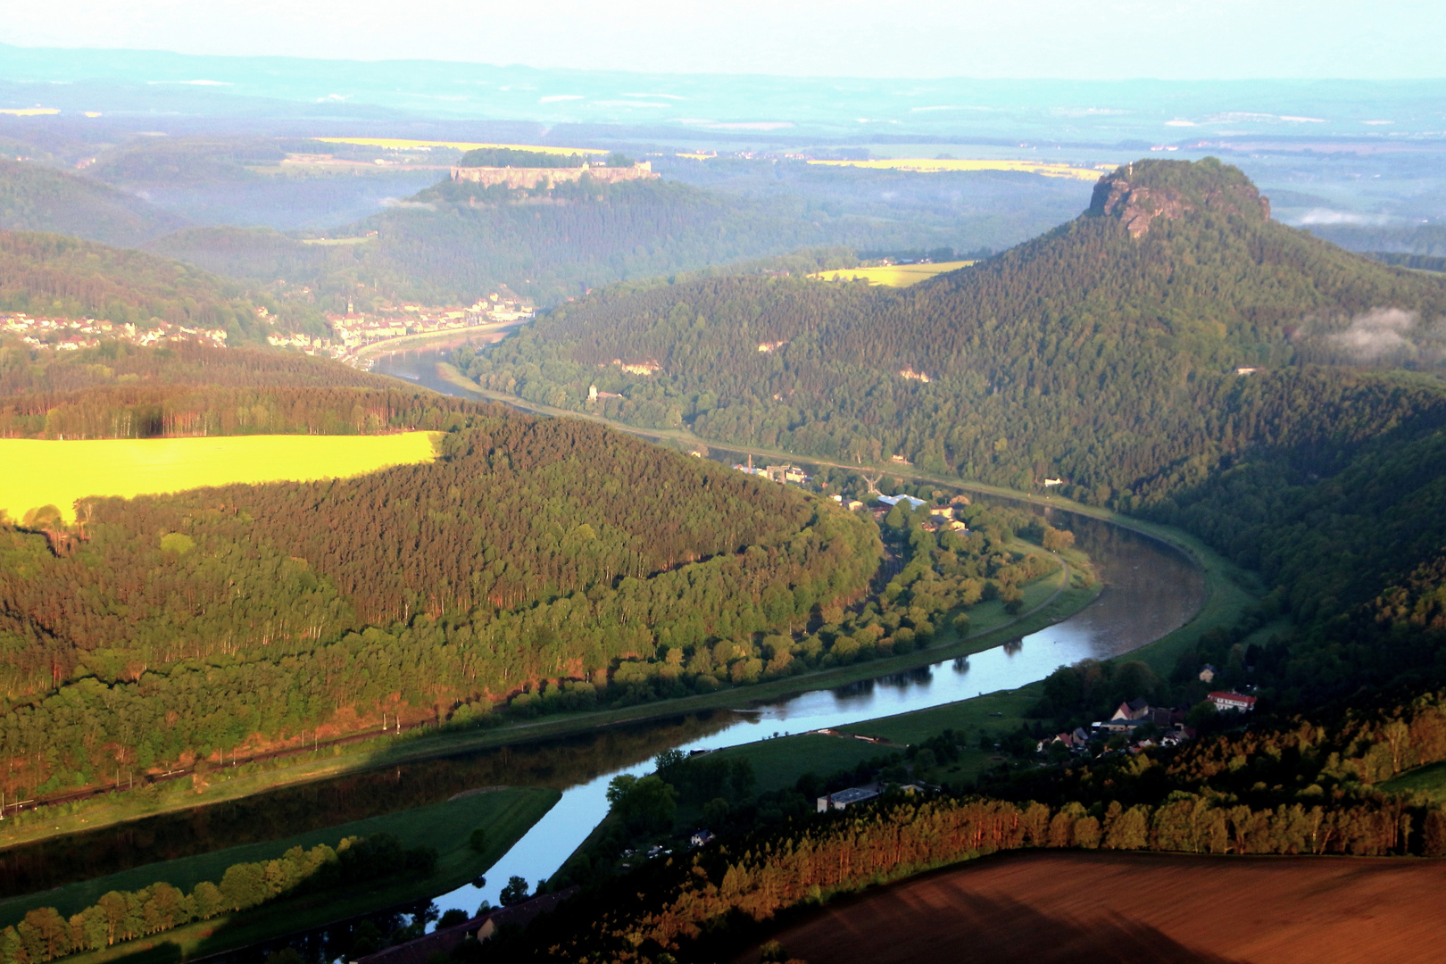
{"type": "Polygon", "coordinates": [[[1053,808],[977,798],[895,799],[636,872],[622,885],[626,898],[615,886],[570,900],[548,918],[545,934],[529,932],[509,957],[691,960],[703,941],[719,939],[730,919],[759,922],[834,895],[1030,847],[1440,856],[1446,815],[1403,804],[1255,811],[1205,798],[1160,806],[1113,804],[1100,814],[1079,802],[1053,808]],[[1403,832],[1413,825],[1420,830],[1403,832]]]}

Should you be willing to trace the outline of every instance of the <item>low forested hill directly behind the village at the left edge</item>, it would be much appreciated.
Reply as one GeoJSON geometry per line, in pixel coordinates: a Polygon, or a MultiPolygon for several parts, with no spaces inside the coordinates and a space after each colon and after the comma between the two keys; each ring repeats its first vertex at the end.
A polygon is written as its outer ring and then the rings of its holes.
{"type": "Polygon", "coordinates": [[[304,321],[291,306],[257,301],[237,282],[181,262],[61,234],[0,231],[0,311],[136,325],[161,318],[244,341],[269,331],[257,306],[294,327],[304,321]]]}

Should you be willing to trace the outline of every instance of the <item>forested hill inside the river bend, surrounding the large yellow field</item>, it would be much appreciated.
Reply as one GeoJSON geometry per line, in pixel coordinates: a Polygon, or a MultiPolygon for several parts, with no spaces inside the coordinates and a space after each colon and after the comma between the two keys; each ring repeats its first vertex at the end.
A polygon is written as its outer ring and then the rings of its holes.
{"type": "Polygon", "coordinates": [[[434,462],[356,478],[87,499],[71,528],[0,522],[12,795],[117,762],[140,775],[304,730],[376,731],[383,713],[461,723],[523,691],[518,713],[726,685],[683,675],[696,649],[752,660],[756,678],[766,640],[791,643],[878,568],[866,517],[591,422],[281,353],[17,353],[0,356],[12,384],[78,386],[39,434],[139,418],[123,393],[153,382],[159,431],[194,402],[207,434],[442,436],[434,462]],[[29,367],[49,373],[26,382],[29,367]]]}

